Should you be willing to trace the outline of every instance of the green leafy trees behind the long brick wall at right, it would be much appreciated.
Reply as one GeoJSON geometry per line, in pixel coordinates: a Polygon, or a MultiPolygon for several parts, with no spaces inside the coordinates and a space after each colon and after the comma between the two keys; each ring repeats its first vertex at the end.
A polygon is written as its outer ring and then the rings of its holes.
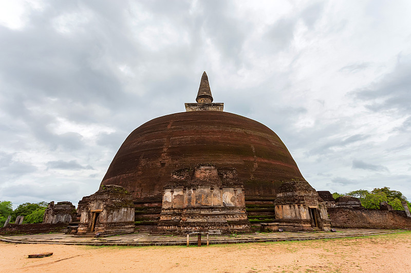
{"type": "MultiPolygon", "coordinates": [[[[399,191],[390,190],[389,187],[374,188],[371,192],[367,190],[357,190],[346,194],[333,193],[334,199],[349,195],[360,199],[361,204],[365,208],[380,208],[381,202],[388,202],[396,211],[404,211],[401,201],[407,201],[406,197],[399,191]]],[[[408,202],[408,208],[411,211],[411,203],[408,202]]]]}

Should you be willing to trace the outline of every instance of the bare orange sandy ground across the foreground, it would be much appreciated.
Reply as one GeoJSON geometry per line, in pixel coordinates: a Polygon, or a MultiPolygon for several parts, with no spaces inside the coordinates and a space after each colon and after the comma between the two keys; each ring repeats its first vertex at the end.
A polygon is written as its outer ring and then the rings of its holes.
{"type": "Polygon", "coordinates": [[[0,242],[2,272],[411,272],[411,232],[211,246],[72,246],[0,242]],[[27,255],[53,252],[50,257],[27,255]]]}

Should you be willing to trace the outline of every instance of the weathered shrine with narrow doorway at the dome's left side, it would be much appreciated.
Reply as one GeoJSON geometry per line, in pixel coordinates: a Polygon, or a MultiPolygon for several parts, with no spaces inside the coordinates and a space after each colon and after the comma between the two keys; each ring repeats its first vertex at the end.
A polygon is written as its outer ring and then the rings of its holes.
{"type": "Polygon", "coordinates": [[[116,235],[134,233],[132,195],[122,186],[101,185],[79,202],[77,235],[116,235]]]}

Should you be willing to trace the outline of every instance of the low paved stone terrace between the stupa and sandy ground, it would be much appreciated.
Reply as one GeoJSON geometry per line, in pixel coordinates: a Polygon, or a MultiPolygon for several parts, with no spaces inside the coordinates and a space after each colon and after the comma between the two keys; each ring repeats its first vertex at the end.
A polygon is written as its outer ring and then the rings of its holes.
{"type": "MultiPolygon", "coordinates": [[[[276,232],[253,233],[230,236],[210,236],[210,244],[260,243],[278,241],[303,241],[330,238],[346,238],[398,233],[402,230],[389,229],[337,229],[337,232],[276,232]]],[[[204,242],[205,243],[204,238],[204,242]]],[[[104,238],[78,238],[61,233],[0,236],[0,241],[21,244],[66,244],[93,246],[161,246],[186,245],[186,236],[153,236],[134,233],[104,238]]],[[[190,245],[197,244],[197,237],[191,236],[190,245]]]]}

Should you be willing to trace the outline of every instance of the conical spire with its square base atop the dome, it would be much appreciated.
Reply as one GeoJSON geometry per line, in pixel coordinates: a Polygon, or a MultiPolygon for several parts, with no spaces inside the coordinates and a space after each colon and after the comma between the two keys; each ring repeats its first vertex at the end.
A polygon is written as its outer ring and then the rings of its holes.
{"type": "Polygon", "coordinates": [[[185,111],[222,111],[224,107],[224,103],[212,103],[213,96],[211,95],[209,78],[206,71],[202,73],[196,101],[197,103],[184,103],[185,111]]]}

